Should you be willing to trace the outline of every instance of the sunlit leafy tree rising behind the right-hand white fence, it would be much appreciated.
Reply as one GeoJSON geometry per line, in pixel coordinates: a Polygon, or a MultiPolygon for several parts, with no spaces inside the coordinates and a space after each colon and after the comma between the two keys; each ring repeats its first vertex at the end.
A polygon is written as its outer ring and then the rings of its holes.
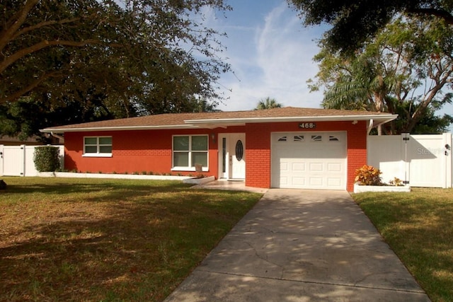
{"type": "Polygon", "coordinates": [[[403,115],[388,132],[411,132],[433,104],[450,101],[448,94],[442,98],[442,88],[452,83],[452,30],[436,19],[398,18],[350,59],[332,54],[321,40],[315,57],[320,71],[311,89],[326,88],[325,108],[403,115]]]}

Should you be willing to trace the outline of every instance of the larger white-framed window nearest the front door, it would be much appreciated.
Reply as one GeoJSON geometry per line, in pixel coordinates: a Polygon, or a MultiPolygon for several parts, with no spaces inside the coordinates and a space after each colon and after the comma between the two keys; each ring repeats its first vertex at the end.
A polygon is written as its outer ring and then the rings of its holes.
{"type": "Polygon", "coordinates": [[[173,170],[195,170],[195,163],[207,170],[207,135],[173,137],[173,170]]]}

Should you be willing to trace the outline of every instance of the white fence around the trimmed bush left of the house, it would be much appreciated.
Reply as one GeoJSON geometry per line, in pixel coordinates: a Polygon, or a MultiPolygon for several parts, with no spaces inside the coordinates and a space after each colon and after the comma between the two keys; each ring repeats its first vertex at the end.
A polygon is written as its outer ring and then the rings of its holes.
{"type": "MultiPolygon", "coordinates": [[[[36,176],[33,156],[35,148],[40,146],[4,146],[0,145],[0,176],[36,176]]],[[[64,146],[59,147],[60,165],[64,164],[64,146]]]]}

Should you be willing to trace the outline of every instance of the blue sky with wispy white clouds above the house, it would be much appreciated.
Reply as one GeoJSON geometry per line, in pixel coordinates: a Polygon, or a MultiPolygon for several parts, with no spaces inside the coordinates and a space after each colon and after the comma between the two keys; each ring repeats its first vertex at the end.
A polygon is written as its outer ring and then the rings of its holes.
{"type": "MultiPolygon", "coordinates": [[[[226,100],[217,108],[252,110],[268,97],[284,107],[321,108],[322,91],[310,93],[306,81],[318,72],[316,40],[326,27],[304,27],[285,0],[225,1],[233,11],[210,11],[206,20],[226,33],[221,55],[234,71],[219,79],[226,100]]],[[[438,113],[453,115],[453,105],[438,113]]]]}

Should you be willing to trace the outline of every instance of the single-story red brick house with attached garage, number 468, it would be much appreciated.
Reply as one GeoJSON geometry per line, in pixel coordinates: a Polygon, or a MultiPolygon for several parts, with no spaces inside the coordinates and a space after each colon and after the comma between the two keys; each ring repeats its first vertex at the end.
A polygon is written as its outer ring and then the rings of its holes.
{"type": "Polygon", "coordinates": [[[91,173],[172,173],[250,187],[353,190],[369,130],[389,113],[274,108],[174,113],[49,127],[64,166],[91,173]]]}

